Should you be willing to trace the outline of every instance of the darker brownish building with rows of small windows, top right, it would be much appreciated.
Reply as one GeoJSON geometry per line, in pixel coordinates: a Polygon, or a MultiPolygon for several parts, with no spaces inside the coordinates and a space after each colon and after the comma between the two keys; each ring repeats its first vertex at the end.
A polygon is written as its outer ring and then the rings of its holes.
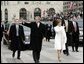
{"type": "Polygon", "coordinates": [[[83,1],[63,1],[63,12],[83,12],[83,1]]]}

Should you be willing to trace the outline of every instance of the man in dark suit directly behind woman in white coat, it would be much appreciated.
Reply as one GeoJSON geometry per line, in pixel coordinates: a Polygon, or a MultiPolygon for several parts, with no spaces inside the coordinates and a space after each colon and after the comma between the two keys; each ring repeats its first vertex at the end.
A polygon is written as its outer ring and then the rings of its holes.
{"type": "Polygon", "coordinates": [[[66,43],[66,50],[63,50],[63,53],[66,54],[67,56],[69,55],[69,50],[68,50],[68,46],[70,43],[72,43],[72,28],[73,28],[73,24],[70,20],[68,20],[68,17],[65,17],[63,19],[62,25],[65,26],[65,31],[66,31],[66,36],[67,36],[67,43],[66,43]]]}

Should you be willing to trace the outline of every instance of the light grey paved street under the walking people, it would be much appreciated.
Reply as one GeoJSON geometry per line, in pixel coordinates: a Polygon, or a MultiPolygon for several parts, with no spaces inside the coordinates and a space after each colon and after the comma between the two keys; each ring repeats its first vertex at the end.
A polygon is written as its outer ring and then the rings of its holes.
{"type": "MultiPolygon", "coordinates": [[[[62,53],[61,63],[83,63],[83,47],[79,47],[79,52],[72,52],[69,47],[70,55],[66,56],[62,53]]],[[[12,58],[12,52],[8,50],[6,45],[1,44],[1,62],[2,63],[34,63],[32,51],[22,51],[21,60],[12,58]]],[[[50,42],[43,41],[43,47],[40,56],[40,63],[58,63],[56,50],[54,49],[54,40],[50,42]]]]}

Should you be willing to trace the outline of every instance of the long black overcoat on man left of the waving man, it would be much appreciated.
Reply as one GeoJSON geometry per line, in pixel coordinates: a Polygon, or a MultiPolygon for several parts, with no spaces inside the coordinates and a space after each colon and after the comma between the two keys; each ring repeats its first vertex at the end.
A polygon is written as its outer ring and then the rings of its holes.
{"type": "Polygon", "coordinates": [[[23,41],[25,40],[25,36],[24,36],[23,27],[21,25],[19,25],[19,39],[17,39],[17,36],[16,36],[16,26],[15,26],[15,24],[13,24],[10,27],[9,40],[11,40],[11,43],[10,43],[10,49],[11,50],[22,50],[23,41]]]}

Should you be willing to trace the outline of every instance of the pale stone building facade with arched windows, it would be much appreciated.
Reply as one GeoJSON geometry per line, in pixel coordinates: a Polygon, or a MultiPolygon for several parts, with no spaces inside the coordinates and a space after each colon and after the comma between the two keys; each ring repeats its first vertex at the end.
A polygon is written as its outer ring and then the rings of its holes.
{"type": "Polygon", "coordinates": [[[47,16],[46,11],[54,9],[63,12],[62,1],[1,1],[1,20],[12,21],[14,18],[34,20],[36,15],[47,16]]]}

